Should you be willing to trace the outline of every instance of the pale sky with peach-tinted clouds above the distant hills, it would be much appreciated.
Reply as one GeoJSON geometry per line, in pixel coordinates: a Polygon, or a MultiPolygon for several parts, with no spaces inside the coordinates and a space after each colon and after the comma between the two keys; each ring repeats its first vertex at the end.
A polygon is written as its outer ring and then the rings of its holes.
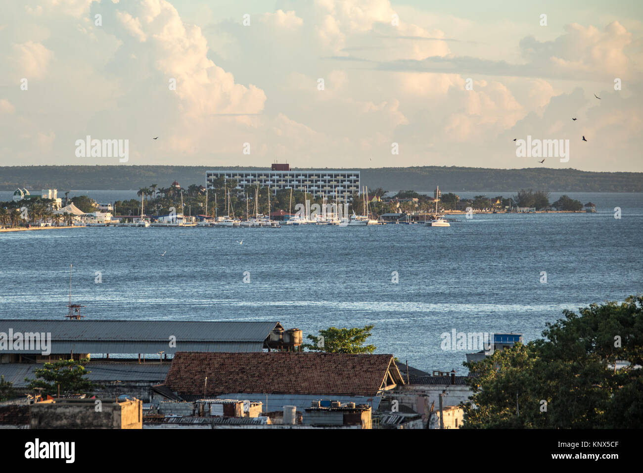
{"type": "Polygon", "coordinates": [[[640,1],[8,0],[0,45],[0,165],[643,172],[640,1]]]}

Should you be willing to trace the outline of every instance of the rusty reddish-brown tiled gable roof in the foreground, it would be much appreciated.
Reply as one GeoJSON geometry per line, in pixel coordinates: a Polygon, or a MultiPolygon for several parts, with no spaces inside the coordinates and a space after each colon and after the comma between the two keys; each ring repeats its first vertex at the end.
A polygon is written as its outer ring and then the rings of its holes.
{"type": "Polygon", "coordinates": [[[180,395],[226,393],[375,396],[386,373],[403,380],[392,355],[338,353],[197,353],[179,352],[165,385],[180,395]]]}

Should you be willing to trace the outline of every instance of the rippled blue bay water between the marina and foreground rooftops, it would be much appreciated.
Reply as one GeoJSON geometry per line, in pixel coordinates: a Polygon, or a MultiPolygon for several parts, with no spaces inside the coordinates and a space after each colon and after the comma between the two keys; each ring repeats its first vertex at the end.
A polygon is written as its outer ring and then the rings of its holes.
{"type": "Polygon", "coordinates": [[[92,319],[279,320],[304,337],[374,324],[377,353],[464,373],[466,351],[442,351],[441,333],[514,331],[531,340],[565,308],[643,292],[643,194],[575,198],[599,213],[463,216],[450,228],[0,233],[0,317],[62,318],[73,263],[73,301],[92,319]]]}

